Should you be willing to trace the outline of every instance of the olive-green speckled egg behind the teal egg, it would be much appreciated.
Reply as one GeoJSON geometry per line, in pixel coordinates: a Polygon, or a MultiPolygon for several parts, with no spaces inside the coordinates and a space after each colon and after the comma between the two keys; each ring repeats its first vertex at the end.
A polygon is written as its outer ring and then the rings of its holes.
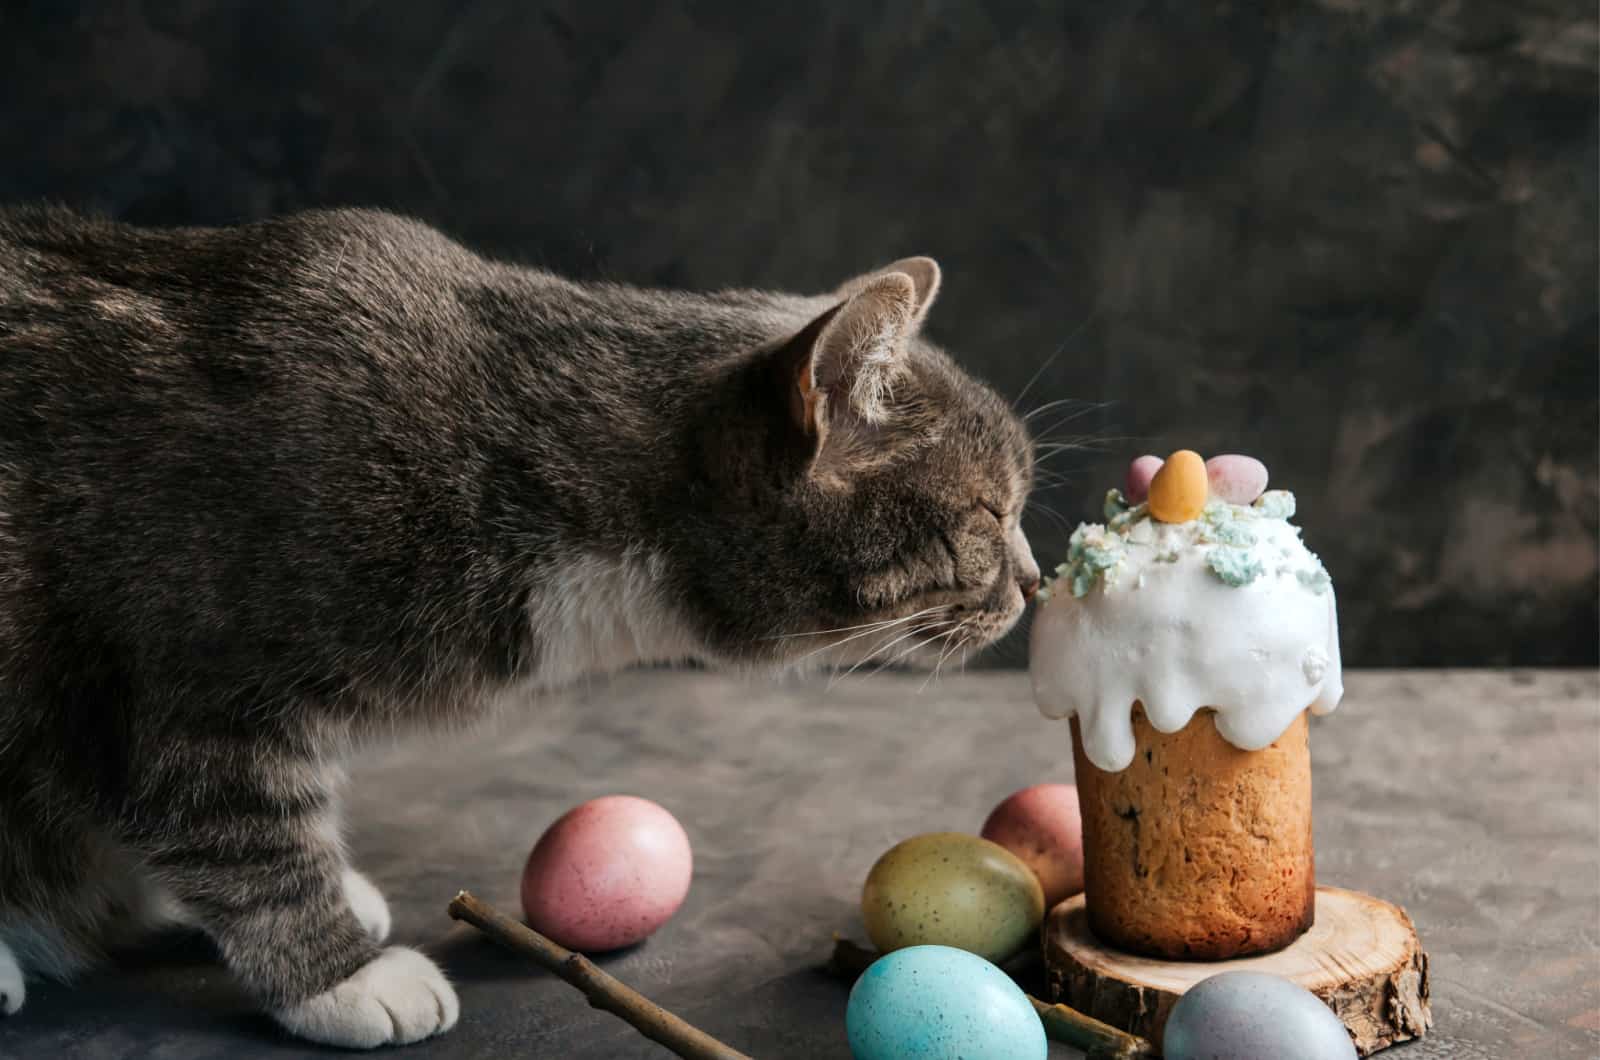
{"type": "Polygon", "coordinates": [[[998,962],[1038,929],[1045,892],[1000,844],[939,831],[912,836],[878,858],[861,889],[861,916],[882,953],[957,946],[998,962]]]}

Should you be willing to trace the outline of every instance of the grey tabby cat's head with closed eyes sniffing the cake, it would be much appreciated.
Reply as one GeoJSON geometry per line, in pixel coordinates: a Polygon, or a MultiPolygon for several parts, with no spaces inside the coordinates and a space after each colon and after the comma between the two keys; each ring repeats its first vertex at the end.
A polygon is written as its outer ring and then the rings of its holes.
{"type": "Polygon", "coordinates": [[[806,299],[706,410],[674,551],[714,655],[926,665],[1021,616],[1032,444],[918,335],[938,291],[938,264],[907,258],[806,299]]]}

